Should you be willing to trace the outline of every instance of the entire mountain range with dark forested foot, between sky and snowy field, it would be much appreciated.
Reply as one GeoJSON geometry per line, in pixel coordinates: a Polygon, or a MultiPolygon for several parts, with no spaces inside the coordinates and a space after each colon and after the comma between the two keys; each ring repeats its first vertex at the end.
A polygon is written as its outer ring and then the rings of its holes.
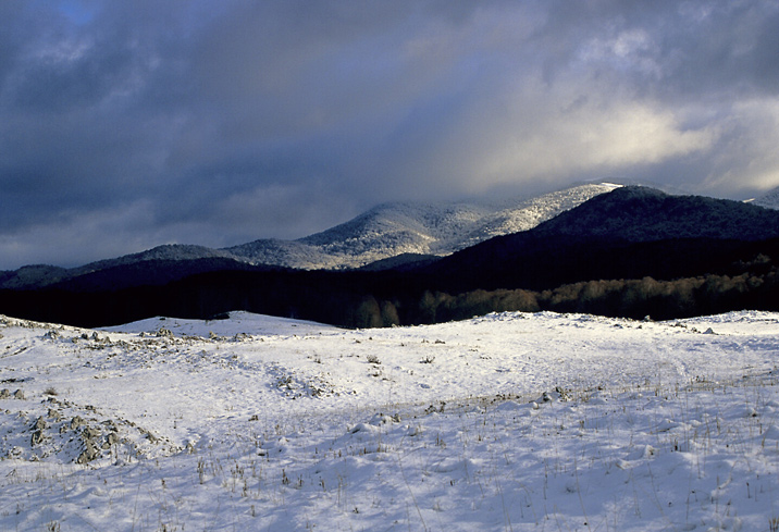
{"type": "Polygon", "coordinates": [[[5,272],[0,312],[96,326],[247,310],[380,326],[493,310],[668,319],[779,309],[778,210],[643,186],[582,185],[509,206],[385,205],[268,242],[5,272]]]}

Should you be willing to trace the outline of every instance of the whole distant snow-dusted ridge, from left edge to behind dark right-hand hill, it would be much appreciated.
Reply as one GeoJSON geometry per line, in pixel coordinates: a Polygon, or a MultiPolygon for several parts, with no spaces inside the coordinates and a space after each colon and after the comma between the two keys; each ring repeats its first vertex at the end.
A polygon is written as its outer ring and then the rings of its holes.
{"type": "Polygon", "coordinates": [[[620,185],[583,184],[506,202],[394,202],[297,240],[259,239],[224,249],[164,245],[78,268],[24,267],[0,273],[0,288],[38,288],[146,261],[224,259],[304,270],[360,268],[398,256],[446,256],[497,235],[527,231],[620,185]]]}

